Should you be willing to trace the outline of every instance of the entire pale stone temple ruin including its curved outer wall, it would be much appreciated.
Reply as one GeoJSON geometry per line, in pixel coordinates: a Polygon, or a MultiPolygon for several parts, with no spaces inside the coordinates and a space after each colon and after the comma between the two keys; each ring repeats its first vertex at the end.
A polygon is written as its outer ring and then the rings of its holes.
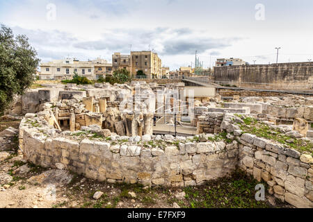
{"type": "MultiPolygon", "coordinates": [[[[171,87],[182,85],[163,89],[171,87]]],[[[312,153],[300,153],[240,128],[244,118],[255,118],[268,128],[312,143],[308,124],[313,120],[312,98],[235,96],[224,102],[217,95],[193,101],[197,135],[173,137],[153,135],[152,111],[158,101],[149,101],[160,88],[145,83],[67,85],[54,89],[58,96],[51,92],[42,96],[38,90],[38,110],[26,113],[19,126],[24,159],[99,181],[171,187],[202,185],[239,167],[267,182],[268,192],[280,200],[313,207],[312,153]],[[143,96],[137,98],[136,90],[143,96]]],[[[25,109],[22,105],[15,110],[25,109]]]]}

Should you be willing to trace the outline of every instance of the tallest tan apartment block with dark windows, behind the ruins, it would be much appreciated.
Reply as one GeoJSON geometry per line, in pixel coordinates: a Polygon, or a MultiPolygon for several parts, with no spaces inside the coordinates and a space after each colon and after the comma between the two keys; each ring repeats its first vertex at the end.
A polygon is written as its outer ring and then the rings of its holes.
{"type": "Polygon", "coordinates": [[[131,55],[112,55],[113,71],[116,69],[127,69],[132,76],[142,70],[147,78],[161,78],[161,59],[157,53],[152,51],[131,51],[131,55]]]}

